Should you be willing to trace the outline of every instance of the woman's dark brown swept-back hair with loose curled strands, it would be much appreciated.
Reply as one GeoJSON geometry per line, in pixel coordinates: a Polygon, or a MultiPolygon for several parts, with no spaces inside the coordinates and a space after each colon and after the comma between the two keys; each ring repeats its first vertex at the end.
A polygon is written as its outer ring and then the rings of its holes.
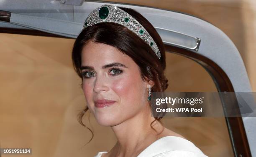
{"type": "MultiPolygon", "coordinates": [[[[164,90],[166,90],[166,88],[168,87],[168,80],[164,76],[164,70],[166,67],[165,48],[161,37],[156,32],[153,25],[151,25],[151,23],[148,22],[148,20],[146,20],[146,18],[143,17],[140,13],[130,8],[119,8],[124,10],[125,12],[128,12],[128,14],[130,14],[138,22],[140,22],[141,25],[147,30],[147,32],[156,42],[156,45],[158,46],[161,53],[161,58],[159,59],[156,56],[155,52],[151,49],[151,47],[127,27],[124,27],[123,25],[114,22],[102,22],[85,28],[75,40],[72,50],[72,61],[74,70],[77,72],[77,75],[79,75],[79,77],[82,79],[80,69],[82,62],[81,52],[82,48],[87,44],[87,42],[93,41],[98,43],[104,43],[113,47],[117,47],[120,52],[128,55],[133,59],[134,62],[136,62],[138,67],[140,67],[142,80],[151,80],[154,82],[154,86],[151,88],[151,92],[164,92],[164,90]]],[[[151,108],[152,107],[154,108],[154,106],[151,106],[151,108]]],[[[86,107],[78,115],[78,121],[84,127],[86,126],[82,122],[82,117],[87,112],[87,110],[88,107],[86,107]]],[[[162,117],[163,115],[160,114],[159,116],[155,117],[155,120],[153,122],[157,120],[161,123],[160,120],[162,117]]],[[[153,122],[151,122],[151,127],[153,122]]],[[[90,128],[88,127],[87,129],[90,130],[90,128]]],[[[92,132],[92,130],[90,130],[90,132],[92,132]]],[[[92,138],[93,136],[94,135],[92,132],[92,138]]],[[[92,140],[92,138],[90,139],[90,141],[92,140]]]]}

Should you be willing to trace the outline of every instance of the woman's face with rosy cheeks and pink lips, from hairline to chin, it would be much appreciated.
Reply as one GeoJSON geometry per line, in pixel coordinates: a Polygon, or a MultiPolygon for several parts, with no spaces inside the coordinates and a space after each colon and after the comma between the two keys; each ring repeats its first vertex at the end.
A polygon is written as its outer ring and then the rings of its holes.
{"type": "Polygon", "coordinates": [[[118,125],[149,107],[138,65],[113,46],[88,42],[82,49],[82,74],[87,106],[100,125],[118,125]]]}

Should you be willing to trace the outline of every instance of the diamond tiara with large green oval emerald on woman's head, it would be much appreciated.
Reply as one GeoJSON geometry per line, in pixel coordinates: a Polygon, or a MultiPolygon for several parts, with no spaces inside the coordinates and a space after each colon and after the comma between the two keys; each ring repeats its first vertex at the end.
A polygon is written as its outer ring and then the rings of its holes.
{"type": "Polygon", "coordinates": [[[93,10],[86,18],[83,25],[83,30],[86,27],[95,25],[100,22],[115,22],[127,27],[129,30],[143,39],[160,59],[161,53],[156,45],[156,42],[149,35],[146,29],[135,18],[133,18],[124,10],[113,5],[102,5],[93,10]]]}

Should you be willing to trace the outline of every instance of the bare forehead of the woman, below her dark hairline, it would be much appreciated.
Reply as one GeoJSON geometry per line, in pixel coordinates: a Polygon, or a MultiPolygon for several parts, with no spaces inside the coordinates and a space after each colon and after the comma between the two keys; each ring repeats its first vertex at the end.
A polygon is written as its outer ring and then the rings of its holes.
{"type": "Polygon", "coordinates": [[[131,57],[120,52],[118,48],[97,42],[88,42],[82,48],[82,65],[102,66],[120,62],[127,66],[136,64],[131,57]]]}

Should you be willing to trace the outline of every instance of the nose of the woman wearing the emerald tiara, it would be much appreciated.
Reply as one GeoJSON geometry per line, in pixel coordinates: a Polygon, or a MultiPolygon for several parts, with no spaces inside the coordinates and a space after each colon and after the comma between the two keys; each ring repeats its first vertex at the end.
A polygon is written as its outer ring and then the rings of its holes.
{"type": "Polygon", "coordinates": [[[106,92],[109,90],[108,79],[104,76],[97,76],[94,82],[93,91],[96,93],[106,92]]]}

